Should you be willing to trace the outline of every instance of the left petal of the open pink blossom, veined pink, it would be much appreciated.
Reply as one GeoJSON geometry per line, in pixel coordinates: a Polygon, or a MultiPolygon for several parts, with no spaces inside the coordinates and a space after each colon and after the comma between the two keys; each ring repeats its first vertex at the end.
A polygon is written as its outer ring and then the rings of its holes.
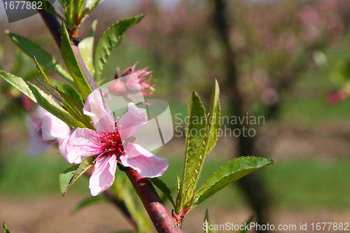
{"type": "Polygon", "coordinates": [[[102,151],[101,141],[94,130],[78,128],[66,143],[66,160],[73,163],[80,156],[98,155],[102,151]]]}

